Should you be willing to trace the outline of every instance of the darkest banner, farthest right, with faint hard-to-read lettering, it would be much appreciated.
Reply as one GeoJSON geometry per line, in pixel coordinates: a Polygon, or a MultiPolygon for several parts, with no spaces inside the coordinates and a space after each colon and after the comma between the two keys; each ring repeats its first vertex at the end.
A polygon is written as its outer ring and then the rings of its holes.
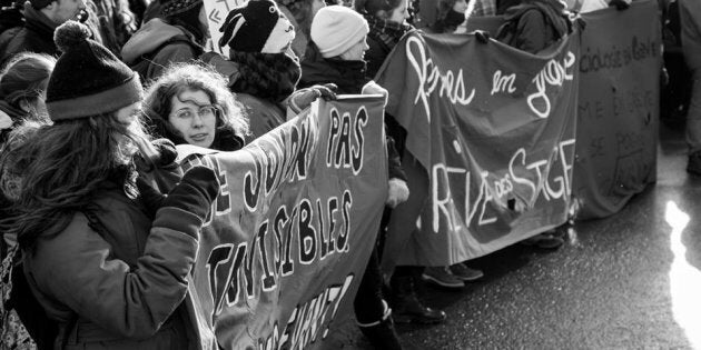
{"type": "Polygon", "coordinates": [[[573,196],[589,219],[656,180],[662,39],[656,1],[583,17],[573,196]]]}

